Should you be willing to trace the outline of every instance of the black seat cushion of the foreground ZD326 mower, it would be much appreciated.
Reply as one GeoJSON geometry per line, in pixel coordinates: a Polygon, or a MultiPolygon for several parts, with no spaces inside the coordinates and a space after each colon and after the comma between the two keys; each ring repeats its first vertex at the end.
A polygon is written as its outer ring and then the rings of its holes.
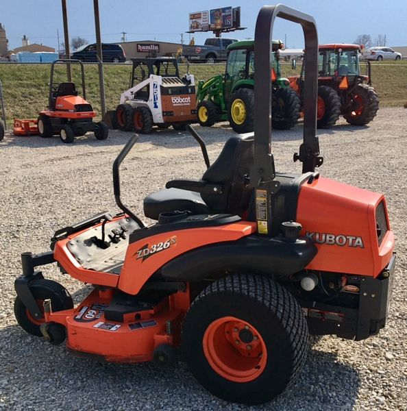
{"type": "Polygon", "coordinates": [[[169,188],[153,192],[144,199],[144,214],[158,220],[160,212],[188,210],[193,214],[208,214],[209,208],[199,192],[169,188]]]}

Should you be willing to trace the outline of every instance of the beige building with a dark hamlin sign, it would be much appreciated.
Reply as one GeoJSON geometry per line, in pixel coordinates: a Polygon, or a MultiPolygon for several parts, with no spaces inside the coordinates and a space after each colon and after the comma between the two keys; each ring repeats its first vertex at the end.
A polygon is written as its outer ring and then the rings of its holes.
{"type": "Polygon", "coordinates": [[[171,43],[154,40],[128,41],[118,43],[123,48],[126,58],[145,58],[145,57],[172,57],[175,56],[180,43],[171,43]]]}

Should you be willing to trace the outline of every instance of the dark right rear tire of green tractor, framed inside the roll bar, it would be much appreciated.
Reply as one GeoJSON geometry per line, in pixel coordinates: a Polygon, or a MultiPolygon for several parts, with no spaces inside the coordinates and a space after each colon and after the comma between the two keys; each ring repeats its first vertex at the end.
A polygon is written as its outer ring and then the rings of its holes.
{"type": "Polygon", "coordinates": [[[293,128],[299,119],[301,101],[297,93],[291,88],[279,88],[273,95],[273,114],[271,124],[273,128],[286,130],[293,128]]]}

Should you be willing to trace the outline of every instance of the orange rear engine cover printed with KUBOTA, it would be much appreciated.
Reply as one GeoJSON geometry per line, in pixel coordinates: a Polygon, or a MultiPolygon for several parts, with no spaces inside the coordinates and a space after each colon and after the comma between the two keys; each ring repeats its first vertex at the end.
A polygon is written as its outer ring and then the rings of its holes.
{"type": "Polygon", "coordinates": [[[297,221],[303,227],[301,234],[318,248],[306,269],[376,277],[391,260],[394,236],[381,194],[320,177],[301,186],[297,221]],[[384,209],[387,225],[380,245],[378,206],[384,209]]]}

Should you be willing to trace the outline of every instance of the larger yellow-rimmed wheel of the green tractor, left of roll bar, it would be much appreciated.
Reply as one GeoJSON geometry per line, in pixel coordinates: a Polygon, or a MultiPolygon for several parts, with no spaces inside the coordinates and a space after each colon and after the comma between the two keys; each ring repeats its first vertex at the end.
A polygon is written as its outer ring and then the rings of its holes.
{"type": "Polygon", "coordinates": [[[230,97],[227,105],[230,127],[236,133],[249,133],[254,130],[254,91],[239,88],[230,97]]]}

